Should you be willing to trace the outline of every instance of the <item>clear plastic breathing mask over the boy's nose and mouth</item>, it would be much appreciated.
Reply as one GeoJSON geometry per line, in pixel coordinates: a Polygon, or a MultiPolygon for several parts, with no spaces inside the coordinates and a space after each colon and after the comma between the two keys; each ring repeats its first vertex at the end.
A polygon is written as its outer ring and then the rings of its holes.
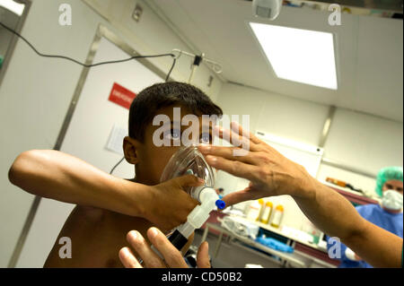
{"type": "MultiPolygon", "coordinates": [[[[180,147],[175,152],[165,169],[162,171],[160,182],[185,175],[194,175],[205,180],[206,186],[215,186],[215,172],[207,164],[204,156],[198,151],[197,145],[180,147]]],[[[194,187],[189,187],[190,194],[194,187]]]]}

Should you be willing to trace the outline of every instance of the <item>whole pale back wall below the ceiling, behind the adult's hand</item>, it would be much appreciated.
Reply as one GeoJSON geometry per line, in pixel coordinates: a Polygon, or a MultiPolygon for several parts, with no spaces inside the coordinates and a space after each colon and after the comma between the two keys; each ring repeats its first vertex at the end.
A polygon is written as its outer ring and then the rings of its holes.
{"type": "MultiPolygon", "coordinates": [[[[264,131],[295,141],[318,145],[329,106],[224,84],[218,104],[225,114],[249,114],[252,132],[264,131]]],[[[382,117],[337,108],[324,156],[364,172],[377,174],[386,166],[403,165],[403,124],[382,117]]],[[[317,178],[340,178],[374,192],[375,180],[321,163],[317,178]]]]}

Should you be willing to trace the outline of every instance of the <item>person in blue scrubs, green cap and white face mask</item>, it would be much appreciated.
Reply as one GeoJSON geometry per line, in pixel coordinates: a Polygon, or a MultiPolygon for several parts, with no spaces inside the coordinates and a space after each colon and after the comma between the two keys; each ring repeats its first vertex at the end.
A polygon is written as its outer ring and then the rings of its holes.
{"type": "MultiPolygon", "coordinates": [[[[356,207],[367,221],[403,237],[403,169],[387,167],[379,171],[376,178],[376,193],[382,197],[382,204],[365,204],[356,207]]],[[[329,242],[329,238],[328,238],[329,242]]],[[[328,247],[332,244],[328,243],[328,247]]],[[[339,268],[372,268],[361,257],[341,243],[341,264],[339,268]]]]}

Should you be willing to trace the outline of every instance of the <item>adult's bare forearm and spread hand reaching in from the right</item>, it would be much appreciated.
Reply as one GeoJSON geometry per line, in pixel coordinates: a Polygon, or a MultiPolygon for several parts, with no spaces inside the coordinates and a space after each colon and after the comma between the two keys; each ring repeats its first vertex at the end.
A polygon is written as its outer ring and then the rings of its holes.
{"type": "Polygon", "coordinates": [[[364,220],[344,196],[312,178],[301,165],[236,123],[232,123],[231,130],[216,127],[216,133],[234,146],[200,145],[206,161],[215,169],[250,180],[245,189],[224,195],[227,206],[272,195],[292,195],[318,229],[329,237],[338,237],[367,263],[402,267],[402,238],[364,220]]]}

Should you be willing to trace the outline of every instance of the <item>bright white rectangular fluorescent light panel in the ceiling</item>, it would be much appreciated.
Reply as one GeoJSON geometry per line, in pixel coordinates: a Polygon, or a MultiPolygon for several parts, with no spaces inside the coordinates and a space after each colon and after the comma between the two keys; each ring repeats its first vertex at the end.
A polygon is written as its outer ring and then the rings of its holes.
{"type": "Polygon", "coordinates": [[[331,33],[250,22],[277,77],[338,89],[331,33]]]}

